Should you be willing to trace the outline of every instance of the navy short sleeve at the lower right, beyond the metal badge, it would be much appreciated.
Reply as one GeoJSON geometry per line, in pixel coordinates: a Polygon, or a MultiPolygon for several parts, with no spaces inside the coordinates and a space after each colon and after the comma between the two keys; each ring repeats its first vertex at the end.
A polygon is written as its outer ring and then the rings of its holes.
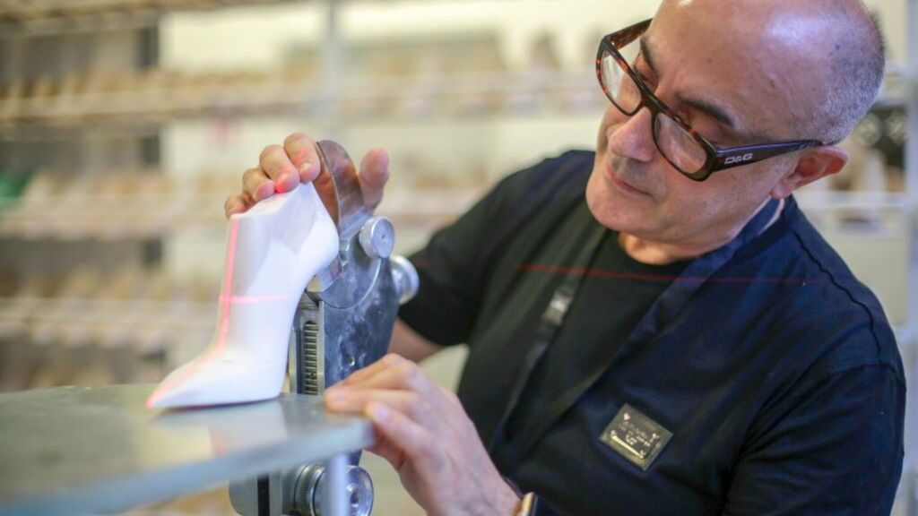
{"type": "Polygon", "coordinates": [[[735,466],[724,514],[890,514],[905,387],[887,365],[828,376],[778,411],[735,466]]]}

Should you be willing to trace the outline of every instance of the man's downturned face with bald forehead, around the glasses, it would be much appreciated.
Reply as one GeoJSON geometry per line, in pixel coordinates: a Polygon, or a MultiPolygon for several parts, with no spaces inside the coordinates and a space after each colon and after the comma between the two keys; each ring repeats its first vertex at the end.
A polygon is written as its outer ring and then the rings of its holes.
{"type": "MultiPolygon", "coordinates": [[[[781,55],[793,49],[756,27],[755,13],[729,13],[729,3],[712,13],[701,3],[665,2],[644,34],[634,70],[715,147],[793,140],[785,126],[797,88],[789,79],[793,66],[781,55]]],[[[599,127],[588,206],[603,225],[643,240],[724,240],[765,202],[797,159],[799,154],[791,153],[695,182],[657,151],[646,108],[629,118],[610,104],[599,127]]]]}

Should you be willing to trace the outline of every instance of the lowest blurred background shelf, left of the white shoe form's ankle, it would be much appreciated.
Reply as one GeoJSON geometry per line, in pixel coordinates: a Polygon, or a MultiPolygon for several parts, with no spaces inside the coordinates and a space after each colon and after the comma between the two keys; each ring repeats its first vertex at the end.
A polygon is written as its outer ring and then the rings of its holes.
{"type": "Polygon", "coordinates": [[[209,342],[218,284],[162,270],[85,266],[6,284],[0,390],[159,381],[170,366],[163,359],[196,353],[209,342]]]}

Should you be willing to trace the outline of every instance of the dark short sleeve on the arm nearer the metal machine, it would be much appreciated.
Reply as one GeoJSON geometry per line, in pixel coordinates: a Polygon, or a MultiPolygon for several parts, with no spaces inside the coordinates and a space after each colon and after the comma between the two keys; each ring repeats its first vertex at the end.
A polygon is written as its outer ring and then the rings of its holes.
{"type": "Polygon", "coordinates": [[[431,342],[468,342],[477,318],[487,317],[481,308],[489,280],[499,274],[498,262],[511,248],[521,252],[517,244],[541,239],[554,219],[582,200],[593,162],[592,152],[567,151],[509,174],[460,219],[437,231],[409,257],[420,286],[399,318],[431,342]]]}

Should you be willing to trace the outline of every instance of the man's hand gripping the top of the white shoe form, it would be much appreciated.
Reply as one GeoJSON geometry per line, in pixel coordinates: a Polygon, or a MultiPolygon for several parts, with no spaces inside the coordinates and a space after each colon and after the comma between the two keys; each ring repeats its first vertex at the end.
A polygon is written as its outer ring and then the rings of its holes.
{"type": "MultiPolygon", "coordinates": [[[[284,145],[264,148],[258,166],[242,174],[242,192],[227,197],[223,205],[226,216],[242,213],[267,197],[293,190],[299,183],[316,181],[319,196],[326,208],[334,213],[338,207],[329,206],[331,184],[328,174],[319,178],[319,151],[316,142],[305,134],[295,132],[284,140],[284,145]]],[[[358,179],[367,208],[376,208],[383,199],[383,187],[389,178],[389,157],[386,151],[373,149],[360,162],[358,179]]]]}

